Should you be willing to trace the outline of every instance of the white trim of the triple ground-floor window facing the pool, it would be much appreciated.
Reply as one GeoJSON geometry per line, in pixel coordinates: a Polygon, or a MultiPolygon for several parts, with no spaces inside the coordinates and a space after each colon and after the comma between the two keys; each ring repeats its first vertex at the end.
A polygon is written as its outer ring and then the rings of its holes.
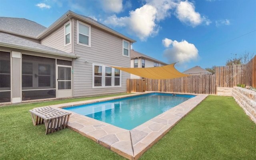
{"type": "Polygon", "coordinates": [[[106,67],[109,66],[104,66],[102,64],[92,64],[92,88],[119,88],[122,87],[122,71],[120,70],[120,85],[119,86],[115,86],[115,68],[112,68],[112,79],[111,79],[111,86],[105,86],[105,70],[106,67]],[[94,86],[94,66],[102,66],[102,84],[101,86],[94,86]]]}

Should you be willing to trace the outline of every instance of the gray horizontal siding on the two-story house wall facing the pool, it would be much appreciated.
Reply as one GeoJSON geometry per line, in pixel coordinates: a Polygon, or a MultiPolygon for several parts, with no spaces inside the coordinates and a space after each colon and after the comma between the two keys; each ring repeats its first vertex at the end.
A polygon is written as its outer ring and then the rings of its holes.
{"type": "Polygon", "coordinates": [[[126,80],[130,74],[122,72],[121,86],[113,88],[92,88],[92,64],[130,67],[130,58],[122,56],[122,38],[91,26],[91,47],[78,45],[76,22],[74,22],[74,53],[81,56],[74,60],[74,96],[94,96],[126,92],[126,80]],[[86,63],[88,60],[89,63],[86,63]]]}

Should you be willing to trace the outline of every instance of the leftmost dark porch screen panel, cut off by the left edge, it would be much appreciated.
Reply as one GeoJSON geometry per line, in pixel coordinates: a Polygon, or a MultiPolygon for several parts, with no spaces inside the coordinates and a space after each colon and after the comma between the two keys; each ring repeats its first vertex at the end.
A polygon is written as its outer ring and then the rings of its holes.
{"type": "Polygon", "coordinates": [[[11,102],[10,52],[0,51],[0,103],[11,102]]]}

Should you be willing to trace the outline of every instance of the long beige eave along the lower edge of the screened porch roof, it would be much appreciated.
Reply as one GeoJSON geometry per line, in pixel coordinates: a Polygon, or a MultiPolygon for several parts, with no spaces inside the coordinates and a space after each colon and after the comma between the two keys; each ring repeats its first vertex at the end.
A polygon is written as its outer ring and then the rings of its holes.
{"type": "Polygon", "coordinates": [[[2,43],[2,42],[0,42],[0,46],[16,48],[16,49],[20,49],[20,50],[29,50],[29,51],[33,51],[33,52],[47,53],[47,54],[52,54],[52,55],[56,55],[56,56],[64,56],[64,57],[70,57],[70,58],[80,58],[80,56],[78,56],[78,55],[54,52],[54,51],[50,51],[50,50],[41,50],[41,49],[37,49],[37,48],[19,46],[19,45],[15,45],[15,44],[6,44],[6,43],[2,43]]]}

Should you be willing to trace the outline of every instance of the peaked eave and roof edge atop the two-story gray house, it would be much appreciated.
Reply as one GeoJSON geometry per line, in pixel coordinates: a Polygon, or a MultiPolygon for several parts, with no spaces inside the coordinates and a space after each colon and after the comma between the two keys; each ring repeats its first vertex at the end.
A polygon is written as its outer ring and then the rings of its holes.
{"type": "Polygon", "coordinates": [[[60,25],[62,25],[62,22],[64,22],[65,20],[70,20],[72,18],[76,18],[78,20],[84,21],[90,25],[94,25],[97,26],[98,28],[101,28],[102,30],[105,30],[106,32],[110,32],[112,34],[115,34],[125,40],[128,40],[130,42],[136,42],[136,40],[133,40],[127,36],[124,36],[123,34],[105,26],[104,24],[90,18],[87,16],[82,16],[81,14],[76,14],[75,12],[72,12],[71,10],[68,10],[68,12],[66,12],[65,14],[63,14],[63,16],[61,16],[58,20],[56,20],[51,26],[49,26],[46,30],[44,30],[44,32],[40,33],[37,38],[40,39],[42,37],[44,37],[45,35],[48,34],[48,32],[51,32],[51,30],[55,27],[58,27],[60,25]]]}

